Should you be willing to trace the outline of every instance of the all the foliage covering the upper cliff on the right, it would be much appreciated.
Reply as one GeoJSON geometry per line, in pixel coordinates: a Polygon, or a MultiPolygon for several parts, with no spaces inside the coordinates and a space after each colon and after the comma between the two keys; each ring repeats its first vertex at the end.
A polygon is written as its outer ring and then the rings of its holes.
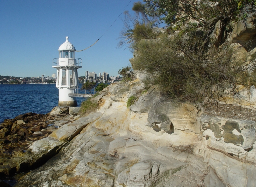
{"type": "MultiPolygon", "coordinates": [[[[124,21],[126,30],[121,33],[124,40],[120,44],[129,44],[134,50],[134,58],[130,59],[132,68],[143,70],[147,74],[146,79],[159,84],[162,92],[184,101],[198,102],[208,98],[214,103],[222,97],[227,85],[236,93],[238,84],[256,84],[256,73],[248,75],[242,65],[244,62],[234,57],[235,51],[225,41],[227,35],[223,34],[220,44],[210,38],[219,20],[223,33],[232,32],[231,23],[244,19],[247,16],[244,7],[256,4],[256,0],[144,2],[146,4],[137,3],[133,7],[136,15],[144,18],[143,21],[127,14],[124,21]],[[155,22],[148,21],[146,17],[155,22]],[[166,34],[154,35],[151,28],[159,20],[163,20],[168,29],[166,34]],[[170,33],[172,35],[168,38],[170,33]]],[[[125,72],[127,70],[123,68],[118,73],[125,72]]]]}

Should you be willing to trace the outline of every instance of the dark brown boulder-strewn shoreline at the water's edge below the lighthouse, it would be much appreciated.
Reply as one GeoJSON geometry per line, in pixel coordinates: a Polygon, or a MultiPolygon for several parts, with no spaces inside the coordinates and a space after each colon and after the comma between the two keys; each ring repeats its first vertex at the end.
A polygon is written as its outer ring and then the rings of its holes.
{"type": "Polygon", "coordinates": [[[57,154],[58,150],[45,156],[33,155],[28,149],[33,142],[79,118],[78,112],[79,107],[55,107],[48,114],[30,112],[5,119],[0,124],[0,180],[13,185],[25,173],[57,154]]]}

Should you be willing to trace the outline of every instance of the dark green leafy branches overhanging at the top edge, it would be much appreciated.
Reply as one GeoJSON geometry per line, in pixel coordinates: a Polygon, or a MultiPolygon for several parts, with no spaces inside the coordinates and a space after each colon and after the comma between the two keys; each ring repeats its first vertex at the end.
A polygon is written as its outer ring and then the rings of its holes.
{"type": "Polygon", "coordinates": [[[238,0],[144,0],[148,16],[158,16],[167,25],[184,24],[190,19],[206,25],[214,17],[232,20],[238,0]]]}

